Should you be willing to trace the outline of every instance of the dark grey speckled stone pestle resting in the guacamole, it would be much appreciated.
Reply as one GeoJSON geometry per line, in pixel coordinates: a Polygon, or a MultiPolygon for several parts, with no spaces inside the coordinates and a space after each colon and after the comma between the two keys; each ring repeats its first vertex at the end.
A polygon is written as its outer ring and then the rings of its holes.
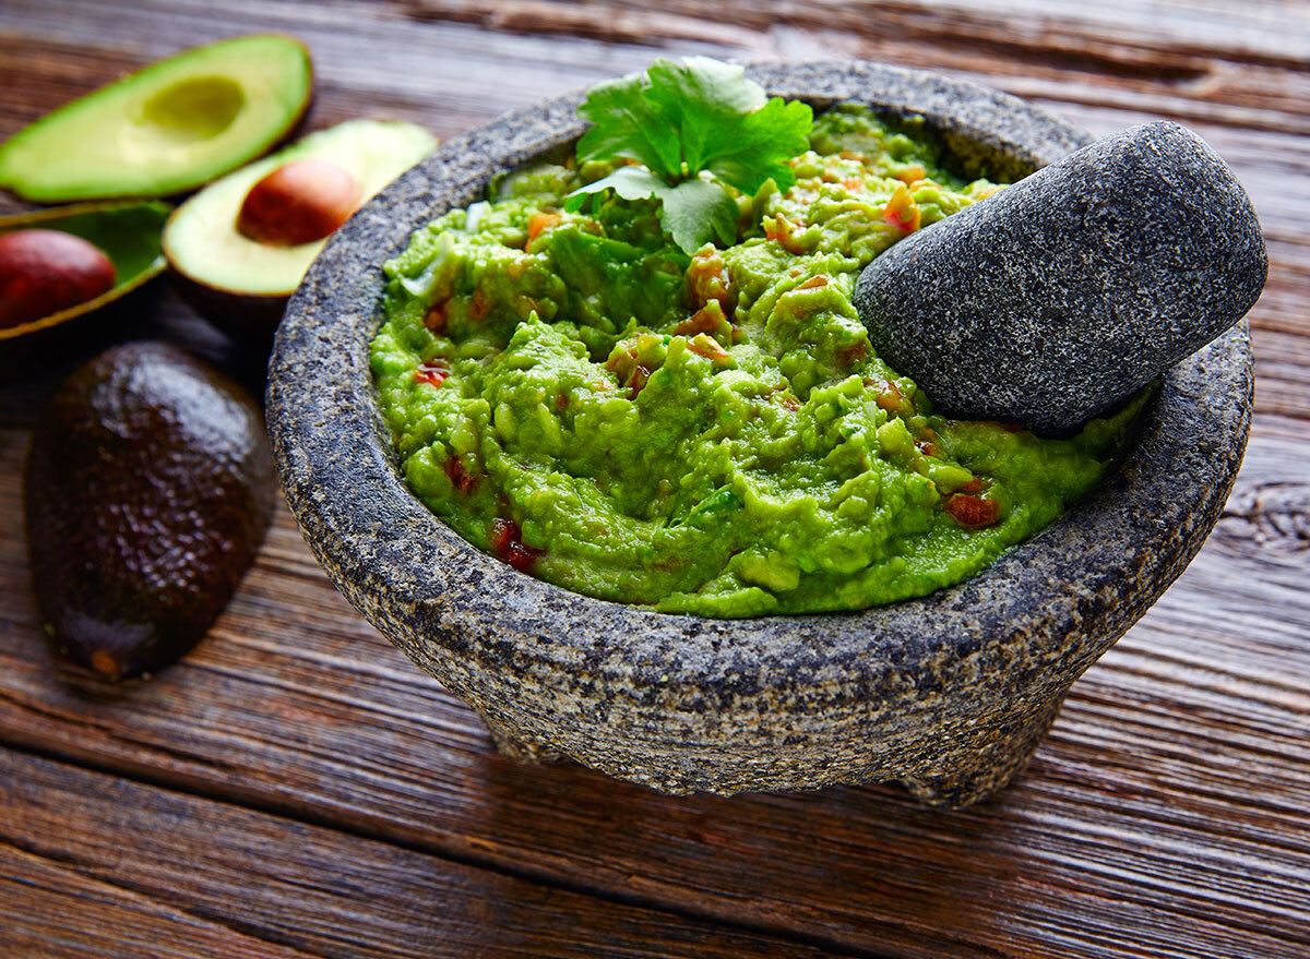
{"type": "Polygon", "coordinates": [[[937,411],[1064,435],[1241,320],[1267,271],[1233,172],[1159,122],[907,237],[863,271],[854,303],[937,411]]]}

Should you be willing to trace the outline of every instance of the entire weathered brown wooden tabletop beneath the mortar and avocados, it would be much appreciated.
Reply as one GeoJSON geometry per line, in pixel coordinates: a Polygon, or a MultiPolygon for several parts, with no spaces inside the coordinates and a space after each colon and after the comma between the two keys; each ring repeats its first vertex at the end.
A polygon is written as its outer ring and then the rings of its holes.
{"type": "MultiPolygon", "coordinates": [[[[181,664],[56,671],[21,521],[29,427],[79,359],[0,385],[3,956],[1310,956],[1310,8],[1279,0],[4,0],[0,136],[179,47],[274,29],[312,127],[451,136],[654,56],[867,58],[1095,134],[1166,117],[1251,193],[1251,445],[1214,535],[1073,688],[1018,782],[667,798],[496,755],[337,595],[283,508],[181,664]]],[[[18,210],[12,199],[0,210],[18,210]]],[[[258,380],[161,284],[144,322],[258,380]]]]}

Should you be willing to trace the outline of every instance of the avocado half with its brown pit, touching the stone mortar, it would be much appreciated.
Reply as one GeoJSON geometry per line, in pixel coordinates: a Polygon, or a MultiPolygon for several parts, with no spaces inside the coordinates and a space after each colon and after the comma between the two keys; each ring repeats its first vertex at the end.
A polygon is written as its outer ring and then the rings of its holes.
{"type": "Polygon", "coordinates": [[[211,183],[164,228],[178,291],[224,329],[272,335],[328,236],[435,147],[413,123],[348,121],[211,183]]]}

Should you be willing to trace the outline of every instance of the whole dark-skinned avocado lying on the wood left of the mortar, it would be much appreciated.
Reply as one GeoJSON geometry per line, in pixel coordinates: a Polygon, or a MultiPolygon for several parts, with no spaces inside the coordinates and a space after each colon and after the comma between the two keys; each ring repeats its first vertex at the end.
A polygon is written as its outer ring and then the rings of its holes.
{"type": "Polygon", "coordinates": [[[26,473],[28,546],[59,656],[122,679],[208,630],[272,514],[258,406],[164,343],[113,347],[42,413],[26,473]]]}

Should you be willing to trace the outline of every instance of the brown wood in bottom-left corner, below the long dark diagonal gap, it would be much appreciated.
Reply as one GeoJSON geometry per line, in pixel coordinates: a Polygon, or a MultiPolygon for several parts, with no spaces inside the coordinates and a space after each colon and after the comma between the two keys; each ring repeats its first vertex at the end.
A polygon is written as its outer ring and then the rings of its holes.
{"type": "Polygon", "coordinates": [[[831,955],[0,748],[0,954],[831,955]]]}

